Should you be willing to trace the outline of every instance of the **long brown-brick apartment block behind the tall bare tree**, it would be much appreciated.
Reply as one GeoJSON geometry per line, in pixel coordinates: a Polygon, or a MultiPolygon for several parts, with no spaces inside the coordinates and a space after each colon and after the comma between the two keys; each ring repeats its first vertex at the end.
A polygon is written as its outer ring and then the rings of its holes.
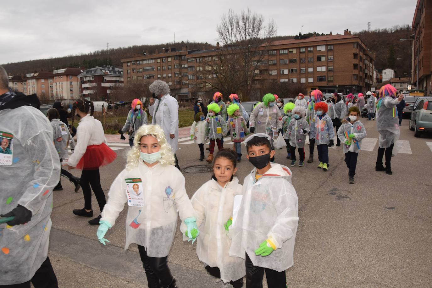
{"type": "MultiPolygon", "coordinates": [[[[122,59],[127,75],[124,82],[151,83],[161,79],[179,100],[192,98],[191,92],[197,90],[197,95],[209,98],[213,91],[203,85],[203,74],[220,51],[216,44],[213,50],[163,49],[152,55],[122,59]]],[[[260,80],[274,80],[302,83],[308,92],[320,89],[355,93],[370,90],[374,81],[375,54],[348,29],[344,35],[330,32],[324,36],[274,41],[266,47],[264,55],[257,71],[259,77],[253,83],[255,88],[259,88],[260,80]]]]}

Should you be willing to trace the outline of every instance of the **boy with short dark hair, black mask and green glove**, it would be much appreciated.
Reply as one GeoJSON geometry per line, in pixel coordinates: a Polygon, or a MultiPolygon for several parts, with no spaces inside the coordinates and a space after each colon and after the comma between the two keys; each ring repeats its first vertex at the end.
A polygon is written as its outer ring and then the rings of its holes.
{"type": "Polygon", "coordinates": [[[246,287],[285,288],[285,270],[294,263],[299,222],[298,199],[288,167],[270,163],[270,136],[257,133],[245,140],[249,162],[255,166],[243,183],[238,214],[233,215],[230,256],[245,258],[246,287]]]}

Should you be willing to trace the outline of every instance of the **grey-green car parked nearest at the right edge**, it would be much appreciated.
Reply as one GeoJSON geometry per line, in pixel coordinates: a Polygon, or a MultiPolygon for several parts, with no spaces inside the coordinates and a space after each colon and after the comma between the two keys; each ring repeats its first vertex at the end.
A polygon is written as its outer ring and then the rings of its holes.
{"type": "MultiPolygon", "coordinates": [[[[414,137],[420,137],[423,132],[432,131],[432,97],[419,97],[413,105],[410,123],[414,137]]],[[[410,105],[410,106],[411,106],[410,105]]]]}

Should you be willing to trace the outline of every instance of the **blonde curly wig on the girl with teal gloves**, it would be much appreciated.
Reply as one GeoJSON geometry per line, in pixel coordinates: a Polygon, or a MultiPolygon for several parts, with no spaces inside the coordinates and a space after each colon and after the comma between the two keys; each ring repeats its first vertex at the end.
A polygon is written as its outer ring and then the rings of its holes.
{"type": "Polygon", "coordinates": [[[165,138],[165,133],[159,125],[143,125],[140,129],[135,133],[135,137],[133,138],[133,146],[127,154],[127,170],[132,170],[138,166],[138,163],[141,160],[140,158],[140,141],[143,136],[152,135],[158,140],[161,149],[162,157],[159,159],[159,163],[162,166],[174,165],[174,154],[172,153],[171,146],[169,146],[168,142],[165,138]]]}

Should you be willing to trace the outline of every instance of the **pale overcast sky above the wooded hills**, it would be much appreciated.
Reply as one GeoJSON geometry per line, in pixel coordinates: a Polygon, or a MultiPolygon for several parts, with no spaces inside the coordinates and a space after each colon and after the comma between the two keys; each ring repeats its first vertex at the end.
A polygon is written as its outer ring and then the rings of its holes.
{"type": "Polygon", "coordinates": [[[228,9],[273,19],[278,35],[343,34],[411,24],[417,0],[15,0],[0,9],[0,63],[88,53],[134,44],[216,44],[228,9]]]}

